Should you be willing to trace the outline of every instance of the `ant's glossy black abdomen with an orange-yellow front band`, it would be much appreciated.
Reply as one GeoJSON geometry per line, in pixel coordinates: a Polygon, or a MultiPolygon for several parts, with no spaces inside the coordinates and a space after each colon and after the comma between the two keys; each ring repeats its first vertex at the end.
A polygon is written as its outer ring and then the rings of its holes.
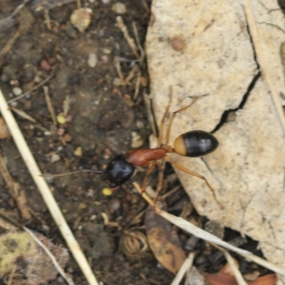
{"type": "Polygon", "coordinates": [[[178,155],[199,157],[214,151],[219,142],[204,130],[192,130],[176,138],[174,150],[178,155]]]}

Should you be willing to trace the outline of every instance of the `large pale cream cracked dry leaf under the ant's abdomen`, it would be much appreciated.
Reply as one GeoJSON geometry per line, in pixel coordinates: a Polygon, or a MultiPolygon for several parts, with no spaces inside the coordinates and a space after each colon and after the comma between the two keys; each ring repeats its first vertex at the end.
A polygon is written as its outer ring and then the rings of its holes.
{"type": "Polygon", "coordinates": [[[154,0],[152,13],[147,56],[157,122],[170,85],[170,112],[205,95],[177,114],[170,145],[189,130],[214,130],[218,149],[202,158],[171,156],[207,177],[224,209],[203,180],[177,171],[182,185],[199,214],[258,240],[265,257],[285,268],[285,128],[277,112],[285,94],[285,20],[277,1],[154,0]],[[258,46],[246,11],[254,15],[258,46]]]}

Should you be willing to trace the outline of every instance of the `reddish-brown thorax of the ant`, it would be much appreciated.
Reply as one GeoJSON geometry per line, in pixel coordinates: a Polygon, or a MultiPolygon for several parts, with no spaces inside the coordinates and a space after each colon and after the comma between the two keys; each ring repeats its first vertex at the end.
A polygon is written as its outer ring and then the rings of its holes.
{"type": "Polygon", "coordinates": [[[160,160],[167,154],[165,147],[130,150],[126,153],[127,161],[135,166],[147,166],[152,160],[160,160]]]}

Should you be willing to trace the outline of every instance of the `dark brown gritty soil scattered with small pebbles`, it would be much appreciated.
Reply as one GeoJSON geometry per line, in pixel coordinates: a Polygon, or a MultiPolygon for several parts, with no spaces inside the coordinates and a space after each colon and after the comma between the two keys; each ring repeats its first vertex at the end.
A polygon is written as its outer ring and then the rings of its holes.
{"type": "MultiPolygon", "coordinates": [[[[32,1],[31,4],[37,2],[32,1]]],[[[151,1],[120,2],[126,7],[125,14],[121,16],[130,36],[135,38],[135,22],[143,46],[150,21],[151,1]]],[[[1,19],[11,14],[20,3],[1,1],[1,19]]],[[[143,62],[140,65],[142,84],[138,97],[134,98],[136,76],[128,85],[118,84],[118,58],[125,78],[138,60],[116,24],[118,14],[112,9],[115,1],[81,0],[82,6],[93,11],[90,26],[83,33],[79,33],[70,22],[71,14],[77,9],[76,2],[48,9],[48,18],[47,13],[36,12],[31,4],[26,4],[16,15],[18,24],[0,32],[1,50],[20,31],[9,53],[0,61],[0,87],[6,99],[11,100],[15,98],[15,87],[26,92],[36,86],[37,78],[43,80],[53,74],[46,86],[56,115],[63,113],[64,102],[70,98],[68,122],[63,125],[53,123],[42,87],[11,104],[11,107],[24,111],[37,122],[31,123],[21,115],[14,114],[41,171],[105,170],[115,155],[132,148],[134,136],[140,136],[143,141],[141,146],[148,147],[148,137],[152,132],[143,99],[143,93],[148,92],[145,84],[147,64],[143,62]],[[98,58],[94,68],[88,66],[90,53],[95,53],[98,58]]],[[[0,149],[11,176],[25,190],[27,204],[35,214],[28,221],[21,218],[1,175],[0,209],[11,214],[17,222],[65,247],[13,140],[0,140],[0,149]]],[[[144,174],[145,170],[139,168],[132,179],[111,196],[103,194],[106,185],[98,174],[80,173],[48,178],[59,207],[88,257],[95,276],[103,284],[170,284],[174,277],[158,265],[150,251],[130,258],[121,250],[120,240],[126,230],[138,228],[144,232],[143,218],[135,223],[133,219],[145,209],[146,204],[132,185],[134,181],[142,182],[144,174]],[[104,223],[102,213],[108,216],[111,223],[104,223]]],[[[170,167],[166,169],[166,176],[165,188],[179,185],[170,167]]],[[[157,173],[153,177],[157,177],[157,173]]],[[[154,185],[156,182],[153,179],[154,185]]],[[[182,202],[189,200],[182,189],[174,196],[167,203],[170,211],[181,212],[182,202]]],[[[194,216],[193,221],[202,224],[204,219],[194,216]]],[[[234,232],[227,233],[228,240],[237,236],[239,234],[234,232]]],[[[182,244],[186,244],[188,238],[180,232],[182,244]]],[[[254,249],[255,246],[256,243],[251,242],[247,249],[254,249]]],[[[201,244],[200,248],[204,248],[204,245],[201,244]]],[[[217,260],[212,255],[214,261],[211,263],[206,258],[206,252],[197,257],[196,266],[213,271],[217,260]]],[[[76,284],[87,284],[72,257],[66,271],[73,276],[76,284]]],[[[6,284],[4,279],[1,282],[6,284]]],[[[50,284],[64,284],[64,281],[58,277],[50,284]]]]}

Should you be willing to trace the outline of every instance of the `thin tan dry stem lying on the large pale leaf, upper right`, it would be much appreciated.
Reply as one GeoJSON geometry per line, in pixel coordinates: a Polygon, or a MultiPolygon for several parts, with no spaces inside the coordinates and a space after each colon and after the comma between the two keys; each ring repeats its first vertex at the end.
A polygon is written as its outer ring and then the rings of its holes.
{"type": "Polygon", "coordinates": [[[272,77],[269,72],[269,69],[266,67],[266,61],[264,59],[264,56],[266,56],[266,51],[262,51],[262,48],[261,48],[261,44],[260,44],[261,38],[259,37],[259,31],[257,28],[257,24],[254,21],[254,14],[252,12],[252,4],[250,0],[244,0],[244,8],[247,14],[249,30],[250,30],[250,33],[252,34],[252,41],[253,41],[254,49],[255,49],[255,52],[257,53],[257,61],[259,61],[261,73],[263,74],[269,86],[269,90],[270,90],[270,93],[274,101],[276,112],[279,115],[279,120],[282,125],[283,133],[285,135],[285,116],[284,116],[282,104],[279,98],[279,94],[277,93],[276,88],[274,87],[274,83],[272,81],[272,77]]]}

